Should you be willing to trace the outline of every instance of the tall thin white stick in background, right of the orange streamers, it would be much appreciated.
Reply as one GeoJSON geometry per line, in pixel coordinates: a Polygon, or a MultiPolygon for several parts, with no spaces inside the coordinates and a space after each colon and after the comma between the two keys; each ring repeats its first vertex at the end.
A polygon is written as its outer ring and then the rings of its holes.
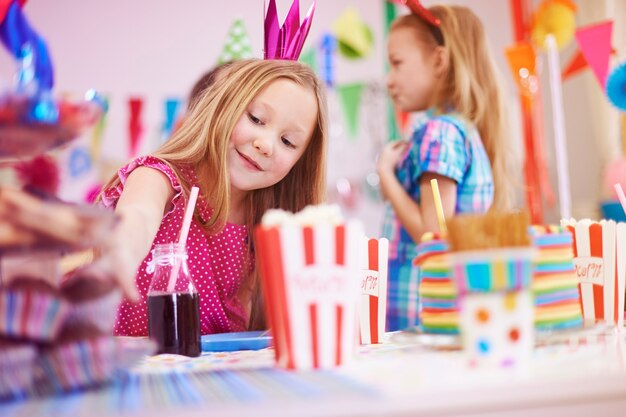
{"type": "Polygon", "coordinates": [[[546,36],[548,51],[548,72],[550,74],[550,95],[552,98],[552,126],[554,128],[554,146],[556,148],[556,172],[559,184],[559,206],[561,218],[571,218],[571,196],[569,189],[569,165],[565,138],[565,118],[563,116],[563,91],[561,90],[561,65],[559,50],[554,35],[546,36]]]}

